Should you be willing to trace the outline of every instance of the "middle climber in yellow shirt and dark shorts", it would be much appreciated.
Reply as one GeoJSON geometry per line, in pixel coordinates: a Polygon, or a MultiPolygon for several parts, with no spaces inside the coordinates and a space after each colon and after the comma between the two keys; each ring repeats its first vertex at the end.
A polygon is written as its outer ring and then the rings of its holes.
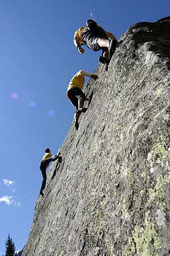
{"type": "Polygon", "coordinates": [[[84,108],[84,101],[88,100],[88,98],[86,98],[86,95],[82,92],[85,81],[84,76],[91,77],[94,80],[98,79],[98,76],[88,73],[87,71],[80,70],[71,79],[66,93],[67,98],[75,108],[74,123],[76,130],[79,128],[78,119],[80,114],[82,112],[85,113],[87,110],[87,108],[84,108]]]}

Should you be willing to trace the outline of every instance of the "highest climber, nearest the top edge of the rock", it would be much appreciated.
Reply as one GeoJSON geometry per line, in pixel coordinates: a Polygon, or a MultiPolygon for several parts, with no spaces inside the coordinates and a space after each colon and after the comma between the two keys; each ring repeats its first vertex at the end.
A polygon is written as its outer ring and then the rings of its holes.
{"type": "Polygon", "coordinates": [[[86,44],[93,51],[102,50],[100,62],[105,63],[107,61],[109,63],[116,51],[118,41],[112,33],[105,31],[94,20],[88,19],[86,27],[80,27],[79,30],[75,31],[74,44],[80,53],[84,53],[83,44],[86,44]]]}

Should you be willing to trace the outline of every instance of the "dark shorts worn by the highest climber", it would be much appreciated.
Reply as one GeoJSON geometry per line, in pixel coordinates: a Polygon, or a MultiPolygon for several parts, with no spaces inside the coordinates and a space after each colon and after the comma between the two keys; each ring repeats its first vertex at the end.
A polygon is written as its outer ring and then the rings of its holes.
{"type": "Polygon", "coordinates": [[[109,39],[102,27],[97,27],[95,32],[91,32],[88,30],[88,28],[85,28],[81,36],[81,39],[84,43],[86,43],[88,48],[92,49],[93,51],[100,51],[101,49],[106,51],[108,49],[107,47],[100,47],[99,44],[97,44],[98,38],[105,38],[107,40],[109,39]]]}

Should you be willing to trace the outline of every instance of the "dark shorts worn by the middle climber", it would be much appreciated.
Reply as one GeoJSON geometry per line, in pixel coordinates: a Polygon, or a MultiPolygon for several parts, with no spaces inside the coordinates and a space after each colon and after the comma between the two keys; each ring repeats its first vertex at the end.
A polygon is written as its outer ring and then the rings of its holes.
{"type": "Polygon", "coordinates": [[[67,96],[71,103],[73,104],[75,110],[78,109],[78,100],[80,97],[86,100],[86,95],[82,92],[82,90],[78,87],[71,88],[67,92],[67,96]]]}

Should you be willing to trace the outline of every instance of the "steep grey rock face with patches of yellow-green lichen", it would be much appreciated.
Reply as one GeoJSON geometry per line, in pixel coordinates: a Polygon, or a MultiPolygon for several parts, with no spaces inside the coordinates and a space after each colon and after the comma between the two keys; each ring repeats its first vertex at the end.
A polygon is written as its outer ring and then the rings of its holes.
{"type": "Polygon", "coordinates": [[[170,255],[169,35],[170,17],[134,24],[96,68],[22,256],[170,255]]]}

